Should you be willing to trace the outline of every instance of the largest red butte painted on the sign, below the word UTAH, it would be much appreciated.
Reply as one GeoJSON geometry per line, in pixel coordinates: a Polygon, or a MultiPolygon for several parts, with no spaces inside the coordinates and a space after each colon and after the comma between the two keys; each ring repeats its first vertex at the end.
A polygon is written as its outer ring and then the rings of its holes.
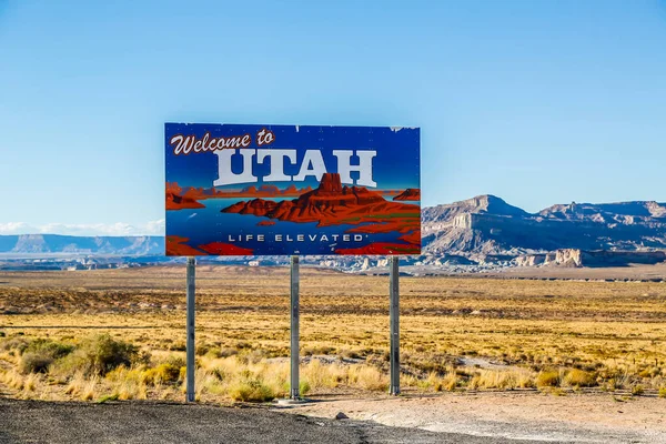
{"type": "MultiPolygon", "coordinates": [[[[223,213],[253,214],[280,221],[317,222],[317,226],[337,224],[402,226],[404,232],[420,228],[420,208],[415,204],[386,201],[381,193],[363,186],[342,185],[339,173],[324,173],[320,185],[294,200],[280,202],[253,199],[238,202],[223,213]]],[[[373,226],[367,225],[367,226],[373,226]]]]}

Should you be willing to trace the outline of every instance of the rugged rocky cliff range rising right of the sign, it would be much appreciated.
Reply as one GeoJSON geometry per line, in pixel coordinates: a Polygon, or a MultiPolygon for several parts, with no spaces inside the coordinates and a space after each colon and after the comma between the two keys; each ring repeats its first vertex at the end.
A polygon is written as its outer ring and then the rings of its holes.
{"type": "Polygon", "coordinates": [[[535,254],[562,249],[652,251],[666,249],[666,204],[622,202],[553,205],[531,214],[493,195],[481,195],[422,212],[424,253],[535,254]]]}

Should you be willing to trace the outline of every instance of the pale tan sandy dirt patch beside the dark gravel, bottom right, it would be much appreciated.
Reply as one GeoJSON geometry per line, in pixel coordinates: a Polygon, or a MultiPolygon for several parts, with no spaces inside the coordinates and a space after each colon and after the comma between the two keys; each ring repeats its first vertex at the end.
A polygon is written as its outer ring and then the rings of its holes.
{"type": "Polygon", "coordinates": [[[666,400],[610,394],[554,396],[529,393],[438,394],[375,398],[320,398],[292,413],[433,432],[511,440],[666,443],[666,400]]]}

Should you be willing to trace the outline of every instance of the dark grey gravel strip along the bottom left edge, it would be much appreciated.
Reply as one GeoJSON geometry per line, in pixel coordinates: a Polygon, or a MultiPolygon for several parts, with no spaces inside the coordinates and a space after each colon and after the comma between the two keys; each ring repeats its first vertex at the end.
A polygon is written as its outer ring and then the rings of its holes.
{"type": "Polygon", "coordinates": [[[0,398],[0,443],[471,443],[513,441],[314,418],[268,407],[0,398]]]}

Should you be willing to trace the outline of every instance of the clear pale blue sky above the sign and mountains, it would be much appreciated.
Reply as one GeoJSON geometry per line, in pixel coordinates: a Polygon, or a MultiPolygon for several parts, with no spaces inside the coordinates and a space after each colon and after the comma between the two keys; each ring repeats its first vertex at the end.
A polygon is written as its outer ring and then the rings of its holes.
{"type": "Polygon", "coordinates": [[[6,233],[154,230],[165,121],[421,127],[424,205],[666,201],[664,0],[0,0],[0,84],[6,233]]]}

